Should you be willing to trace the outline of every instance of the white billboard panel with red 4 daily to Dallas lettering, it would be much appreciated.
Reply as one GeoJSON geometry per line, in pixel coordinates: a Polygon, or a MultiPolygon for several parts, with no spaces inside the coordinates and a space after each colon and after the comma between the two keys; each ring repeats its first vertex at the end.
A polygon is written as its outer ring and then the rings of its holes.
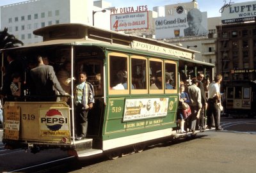
{"type": "Polygon", "coordinates": [[[112,31],[148,29],[148,11],[110,15],[112,31]]]}

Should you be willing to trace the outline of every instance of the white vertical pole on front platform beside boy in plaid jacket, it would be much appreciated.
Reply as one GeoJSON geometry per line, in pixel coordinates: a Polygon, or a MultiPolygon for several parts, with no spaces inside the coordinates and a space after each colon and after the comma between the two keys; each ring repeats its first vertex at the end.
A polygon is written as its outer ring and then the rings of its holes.
{"type": "Polygon", "coordinates": [[[74,46],[71,46],[71,123],[72,140],[75,142],[75,123],[74,123],[74,46]]]}

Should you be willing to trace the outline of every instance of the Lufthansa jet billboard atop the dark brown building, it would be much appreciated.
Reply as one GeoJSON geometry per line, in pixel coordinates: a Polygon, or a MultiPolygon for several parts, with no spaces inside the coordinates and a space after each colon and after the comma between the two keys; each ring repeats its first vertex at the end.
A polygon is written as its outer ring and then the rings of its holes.
{"type": "Polygon", "coordinates": [[[225,4],[220,12],[222,24],[255,21],[256,1],[225,4]]]}

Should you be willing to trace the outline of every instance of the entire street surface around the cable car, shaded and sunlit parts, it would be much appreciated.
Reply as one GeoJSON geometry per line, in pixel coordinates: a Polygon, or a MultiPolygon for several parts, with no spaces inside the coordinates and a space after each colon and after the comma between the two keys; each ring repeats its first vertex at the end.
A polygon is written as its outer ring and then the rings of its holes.
{"type": "MultiPolygon", "coordinates": [[[[104,156],[63,163],[51,163],[61,172],[255,172],[256,119],[221,118],[225,130],[197,133],[188,137],[148,146],[142,153],[134,153],[116,160],[104,156]]],[[[1,131],[1,136],[3,132],[1,131]]],[[[22,150],[9,151],[0,146],[0,171],[19,170],[23,167],[68,157],[58,149],[31,154],[22,150]]],[[[49,172],[42,165],[24,172],[49,172]]],[[[22,171],[15,171],[22,172],[22,171]]]]}

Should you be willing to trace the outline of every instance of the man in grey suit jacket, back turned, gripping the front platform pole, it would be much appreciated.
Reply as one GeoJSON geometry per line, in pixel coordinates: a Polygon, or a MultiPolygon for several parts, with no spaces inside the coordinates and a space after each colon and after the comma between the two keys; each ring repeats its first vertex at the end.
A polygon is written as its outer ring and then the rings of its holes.
{"type": "Polygon", "coordinates": [[[35,85],[31,86],[35,87],[31,89],[35,92],[32,94],[40,96],[38,100],[56,101],[56,91],[54,91],[53,87],[55,87],[61,95],[68,94],[60,86],[60,82],[55,75],[53,67],[45,65],[42,56],[36,57],[36,63],[38,65],[31,69],[30,74],[33,84],[35,85]]]}

